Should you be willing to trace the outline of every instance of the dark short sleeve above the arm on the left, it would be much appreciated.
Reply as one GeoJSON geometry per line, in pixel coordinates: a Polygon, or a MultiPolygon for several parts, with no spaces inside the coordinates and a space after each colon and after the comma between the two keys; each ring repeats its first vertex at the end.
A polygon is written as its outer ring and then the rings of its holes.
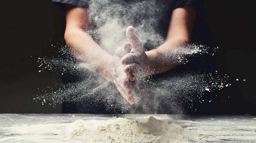
{"type": "Polygon", "coordinates": [[[60,8],[64,8],[64,4],[89,8],[89,2],[87,0],[53,0],[53,4],[59,6],[60,8]]]}

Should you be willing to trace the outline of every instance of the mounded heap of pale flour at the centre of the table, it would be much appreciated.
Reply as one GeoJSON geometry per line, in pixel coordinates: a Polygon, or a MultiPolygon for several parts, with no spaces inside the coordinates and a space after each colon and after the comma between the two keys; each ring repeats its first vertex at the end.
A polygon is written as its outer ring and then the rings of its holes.
{"type": "Polygon", "coordinates": [[[76,120],[62,129],[63,142],[189,142],[198,139],[195,131],[151,116],[145,122],[117,118],[105,121],[76,120]]]}

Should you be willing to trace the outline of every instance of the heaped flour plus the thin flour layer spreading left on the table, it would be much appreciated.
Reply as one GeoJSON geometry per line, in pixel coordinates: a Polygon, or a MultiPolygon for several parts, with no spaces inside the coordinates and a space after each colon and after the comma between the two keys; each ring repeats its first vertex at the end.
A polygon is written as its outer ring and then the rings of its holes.
{"type": "Polygon", "coordinates": [[[0,142],[182,143],[200,139],[195,129],[182,128],[175,120],[169,124],[166,120],[156,118],[149,116],[131,120],[113,117],[107,120],[77,119],[72,123],[24,124],[11,127],[11,132],[0,142]]]}

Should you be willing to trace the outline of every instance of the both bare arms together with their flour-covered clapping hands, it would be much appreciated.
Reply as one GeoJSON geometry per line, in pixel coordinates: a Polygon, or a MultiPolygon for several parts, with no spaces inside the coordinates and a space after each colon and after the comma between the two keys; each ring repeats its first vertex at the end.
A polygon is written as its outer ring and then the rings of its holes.
{"type": "Polygon", "coordinates": [[[126,31],[129,42],[118,48],[112,56],[88,34],[93,25],[90,9],[65,4],[65,11],[64,38],[71,52],[80,62],[89,64],[89,70],[114,82],[129,103],[134,103],[133,89],[140,78],[177,66],[173,62],[175,58],[171,57],[172,53],[177,47],[190,42],[196,17],[196,9],[190,5],[173,10],[166,41],[146,52],[133,27],[129,26],[126,31]]]}

